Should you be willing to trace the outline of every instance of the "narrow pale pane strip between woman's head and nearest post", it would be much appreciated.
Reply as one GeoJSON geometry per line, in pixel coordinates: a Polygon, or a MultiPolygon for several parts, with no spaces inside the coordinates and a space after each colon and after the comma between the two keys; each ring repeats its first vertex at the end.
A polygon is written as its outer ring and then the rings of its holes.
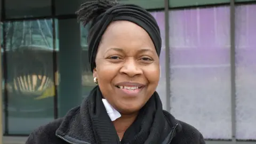
{"type": "Polygon", "coordinates": [[[151,14],[154,16],[156,19],[158,26],[161,31],[161,37],[162,37],[162,50],[161,50],[161,55],[159,57],[160,59],[160,79],[159,83],[157,86],[157,93],[159,94],[162,104],[163,104],[163,109],[167,110],[166,108],[166,75],[165,75],[165,17],[164,17],[164,12],[151,12],[151,14]]]}

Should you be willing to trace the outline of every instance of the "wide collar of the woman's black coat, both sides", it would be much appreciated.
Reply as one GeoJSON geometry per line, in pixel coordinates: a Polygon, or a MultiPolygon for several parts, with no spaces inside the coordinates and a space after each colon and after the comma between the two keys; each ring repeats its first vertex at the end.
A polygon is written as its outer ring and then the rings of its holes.
{"type": "MultiPolygon", "coordinates": [[[[85,99],[81,106],[71,109],[65,117],[63,117],[62,123],[55,132],[55,135],[72,144],[90,144],[95,143],[93,140],[94,134],[91,126],[91,119],[87,113],[87,109],[83,108],[86,105],[87,99],[85,99]],[[81,108],[82,107],[82,108],[81,108]]],[[[166,126],[172,127],[172,131],[167,135],[163,144],[169,142],[182,127],[179,121],[177,121],[170,113],[163,110],[166,126]]]]}

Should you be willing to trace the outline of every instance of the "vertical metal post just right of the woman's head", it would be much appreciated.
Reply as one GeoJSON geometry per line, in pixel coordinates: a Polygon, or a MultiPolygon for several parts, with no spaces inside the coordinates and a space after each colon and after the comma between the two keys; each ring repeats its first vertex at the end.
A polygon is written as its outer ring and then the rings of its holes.
{"type": "Polygon", "coordinates": [[[170,47],[169,47],[169,0],[164,0],[165,15],[165,76],[166,76],[166,110],[170,111],[171,77],[170,77],[170,47]]]}

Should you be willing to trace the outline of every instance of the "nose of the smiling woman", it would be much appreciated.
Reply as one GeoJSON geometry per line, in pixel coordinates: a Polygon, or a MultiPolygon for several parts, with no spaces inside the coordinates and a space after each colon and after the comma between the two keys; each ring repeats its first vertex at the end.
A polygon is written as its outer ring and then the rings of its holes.
{"type": "Polygon", "coordinates": [[[129,77],[141,75],[142,69],[138,66],[138,63],[133,58],[125,60],[124,65],[120,69],[121,74],[126,74],[129,77]]]}

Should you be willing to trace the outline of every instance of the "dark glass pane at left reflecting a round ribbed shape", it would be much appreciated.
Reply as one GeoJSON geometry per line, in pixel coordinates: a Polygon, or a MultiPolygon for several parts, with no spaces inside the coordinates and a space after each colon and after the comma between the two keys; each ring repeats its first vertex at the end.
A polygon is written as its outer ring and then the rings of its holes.
{"type": "Polygon", "coordinates": [[[53,119],[52,20],[5,22],[9,134],[53,119]]]}

